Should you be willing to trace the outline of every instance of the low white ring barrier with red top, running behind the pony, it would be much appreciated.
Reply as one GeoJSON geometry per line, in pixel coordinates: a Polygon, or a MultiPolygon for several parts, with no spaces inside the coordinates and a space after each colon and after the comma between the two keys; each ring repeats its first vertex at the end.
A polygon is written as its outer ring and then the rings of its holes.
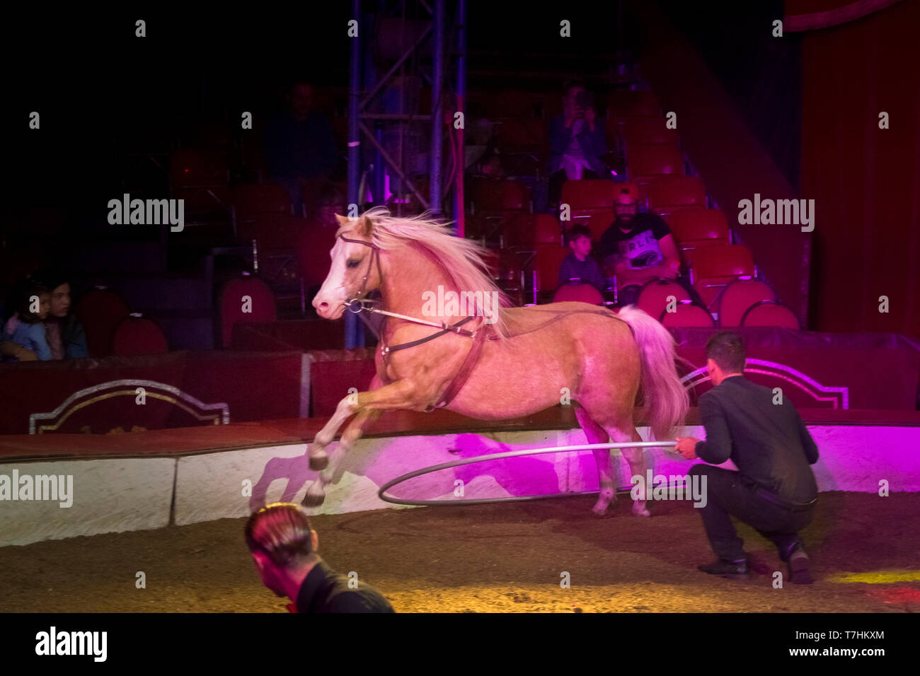
{"type": "MultiPolygon", "coordinates": [[[[751,368],[771,367],[752,361],[751,368]]],[[[821,451],[813,466],[820,490],[877,493],[880,480],[887,481],[892,492],[920,490],[914,451],[920,444],[920,414],[846,411],[843,392],[806,383],[782,369],[778,372],[788,376],[783,381],[787,386],[800,381],[814,395],[838,401],[836,408],[833,402],[822,402],[822,411],[800,407],[821,451]]],[[[699,378],[699,373],[691,373],[686,382],[699,378]]],[[[213,415],[215,410],[208,412],[213,415]]],[[[220,411],[216,412],[220,418],[220,411]]],[[[392,487],[395,477],[420,468],[461,459],[469,462],[417,476],[411,485],[398,487],[395,497],[491,500],[596,492],[596,464],[592,451],[585,450],[587,439],[570,407],[544,413],[529,418],[524,428],[521,421],[492,424],[450,411],[388,414],[343,462],[339,463],[336,445],[330,447],[336,473],[325,503],[311,513],[415,509],[393,508],[378,497],[381,487],[388,482],[392,487]],[[396,422],[386,423],[388,417],[396,422]],[[567,450],[552,451],[558,447],[567,450]],[[483,458],[490,453],[520,457],[483,458]],[[462,496],[454,494],[458,480],[463,482],[462,496]]],[[[14,472],[73,477],[69,507],[53,500],[0,504],[7,517],[0,523],[0,545],[245,517],[267,502],[299,503],[316,478],[304,456],[306,442],[324,422],[321,418],[229,425],[202,422],[199,427],[135,434],[0,436],[0,483],[4,475],[8,481],[14,472]]],[[[684,435],[705,436],[693,424],[694,418],[690,422],[684,435]]],[[[638,431],[648,440],[647,428],[638,431]]],[[[616,486],[629,487],[628,464],[615,450],[613,458],[616,486]]],[[[647,469],[656,477],[685,476],[698,462],[684,461],[657,442],[646,458],[647,469]]],[[[654,507],[651,510],[654,516],[654,507]]]]}

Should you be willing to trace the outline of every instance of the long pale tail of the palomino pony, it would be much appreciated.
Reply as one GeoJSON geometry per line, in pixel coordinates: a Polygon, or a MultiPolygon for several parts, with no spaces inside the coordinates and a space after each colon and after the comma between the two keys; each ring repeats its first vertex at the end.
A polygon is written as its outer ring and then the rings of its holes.
{"type": "Polygon", "coordinates": [[[675,361],[681,361],[668,329],[635,305],[617,315],[632,329],[642,361],[641,387],[644,417],[656,441],[672,440],[684,424],[690,400],[677,375],[675,361]]]}

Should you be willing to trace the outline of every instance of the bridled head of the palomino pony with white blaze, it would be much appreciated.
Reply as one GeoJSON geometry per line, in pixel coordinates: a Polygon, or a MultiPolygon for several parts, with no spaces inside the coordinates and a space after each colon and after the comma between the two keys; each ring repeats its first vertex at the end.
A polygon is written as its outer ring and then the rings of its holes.
{"type": "MultiPolygon", "coordinates": [[[[341,235],[370,244],[372,224],[368,219],[362,216],[351,221],[339,214],[336,214],[336,218],[339,227],[353,225],[351,229],[340,233],[341,235]]],[[[341,237],[336,238],[336,244],[329,252],[332,262],[326,281],[313,299],[317,315],[324,319],[338,319],[345,312],[346,301],[355,298],[361,292],[364,275],[367,275],[367,283],[364,284],[363,294],[373,291],[380,285],[377,266],[371,265],[373,253],[374,249],[370,246],[346,242],[341,237]]]]}

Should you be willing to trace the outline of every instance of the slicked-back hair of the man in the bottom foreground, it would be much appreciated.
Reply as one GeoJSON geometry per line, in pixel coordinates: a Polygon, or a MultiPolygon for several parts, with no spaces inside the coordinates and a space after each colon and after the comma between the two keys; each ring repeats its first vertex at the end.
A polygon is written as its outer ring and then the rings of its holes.
{"type": "Polygon", "coordinates": [[[261,552],[277,567],[296,566],[313,553],[310,520],[293,502],[274,502],[254,512],[244,536],[250,552],[261,552]]]}

